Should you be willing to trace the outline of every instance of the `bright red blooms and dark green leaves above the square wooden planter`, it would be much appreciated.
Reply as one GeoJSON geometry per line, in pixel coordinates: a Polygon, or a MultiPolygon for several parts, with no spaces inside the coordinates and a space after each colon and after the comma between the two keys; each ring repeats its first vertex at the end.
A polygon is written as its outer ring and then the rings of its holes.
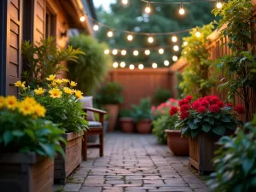
{"type": "Polygon", "coordinates": [[[175,129],[181,130],[186,137],[196,137],[200,132],[224,136],[226,130],[236,130],[241,121],[237,114],[245,113],[242,106],[233,108],[231,103],[224,103],[218,96],[204,96],[192,102],[192,96],[186,96],[172,106],[170,116],[179,115],[175,129]]]}

